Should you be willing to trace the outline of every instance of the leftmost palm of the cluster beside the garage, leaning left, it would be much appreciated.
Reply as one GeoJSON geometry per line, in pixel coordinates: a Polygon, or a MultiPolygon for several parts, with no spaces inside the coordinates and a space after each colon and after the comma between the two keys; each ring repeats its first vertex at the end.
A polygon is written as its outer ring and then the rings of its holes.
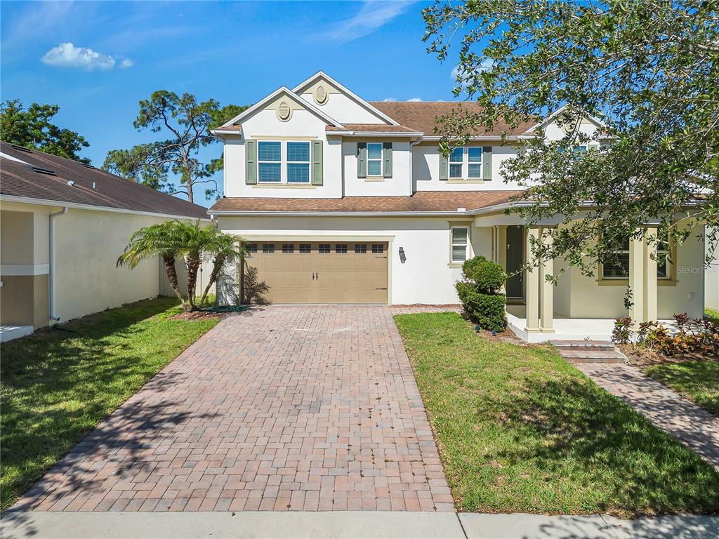
{"type": "Polygon", "coordinates": [[[162,258],[162,263],[165,264],[170,287],[180,300],[183,310],[188,310],[188,308],[178,286],[175,259],[186,250],[187,226],[180,221],[166,221],[135,231],[130,236],[127,247],[117,259],[116,264],[117,267],[127,265],[132,270],[142,260],[159,255],[162,258]]]}

